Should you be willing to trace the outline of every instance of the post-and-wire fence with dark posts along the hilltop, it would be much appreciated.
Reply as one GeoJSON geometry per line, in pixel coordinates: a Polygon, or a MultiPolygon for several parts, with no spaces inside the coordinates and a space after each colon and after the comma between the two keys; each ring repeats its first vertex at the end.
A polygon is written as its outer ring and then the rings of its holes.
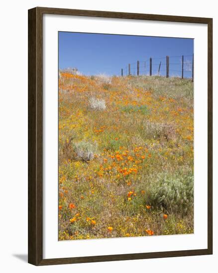
{"type": "Polygon", "coordinates": [[[137,61],[121,68],[121,76],[123,75],[159,75],[191,78],[194,81],[194,54],[137,61]]]}

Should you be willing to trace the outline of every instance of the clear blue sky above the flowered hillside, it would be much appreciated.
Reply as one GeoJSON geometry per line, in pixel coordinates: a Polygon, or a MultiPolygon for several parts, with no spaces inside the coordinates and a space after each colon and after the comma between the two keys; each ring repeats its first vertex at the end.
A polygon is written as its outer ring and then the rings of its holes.
{"type": "Polygon", "coordinates": [[[128,64],[134,74],[137,60],[141,61],[140,74],[147,74],[150,57],[152,73],[157,73],[161,61],[160,74],[164,75],[167,55],[178,56],[170,58],[170,75],[180,75],[180,56],[184,55],[188,56],[184,57],[184,75],[191,77],[193,51],[193,39],[59,32],[59,68],[78,68],[86,75],[120,75],[121,68],[125,74],[128,64]]]}

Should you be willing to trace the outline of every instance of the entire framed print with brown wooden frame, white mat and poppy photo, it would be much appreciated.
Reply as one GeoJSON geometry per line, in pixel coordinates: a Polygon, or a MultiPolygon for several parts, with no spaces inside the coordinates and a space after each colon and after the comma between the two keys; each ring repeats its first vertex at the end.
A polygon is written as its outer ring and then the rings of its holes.
{"type": "Polygon", "coordinates": [[[28,25],[28,262],[212,254],[212,19],[28,25]]]}

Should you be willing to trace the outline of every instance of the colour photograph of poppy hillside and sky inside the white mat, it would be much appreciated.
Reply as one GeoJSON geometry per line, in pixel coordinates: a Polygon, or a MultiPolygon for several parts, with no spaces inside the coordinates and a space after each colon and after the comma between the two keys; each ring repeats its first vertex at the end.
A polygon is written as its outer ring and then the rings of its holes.
{"type": "Polygon", "coordinates": [[[194,39],[58,32],[59,241],[194,233],[194,39]]]}

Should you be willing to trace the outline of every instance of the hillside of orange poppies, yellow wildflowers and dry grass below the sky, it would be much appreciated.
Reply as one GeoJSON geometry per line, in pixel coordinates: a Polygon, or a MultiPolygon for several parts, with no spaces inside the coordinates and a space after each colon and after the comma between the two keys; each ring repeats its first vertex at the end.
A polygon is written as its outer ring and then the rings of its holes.
{"type": "Polygon", "coordinates": [[[193,82],[59,72],[59,240],[194,232],[193,82]]]}

